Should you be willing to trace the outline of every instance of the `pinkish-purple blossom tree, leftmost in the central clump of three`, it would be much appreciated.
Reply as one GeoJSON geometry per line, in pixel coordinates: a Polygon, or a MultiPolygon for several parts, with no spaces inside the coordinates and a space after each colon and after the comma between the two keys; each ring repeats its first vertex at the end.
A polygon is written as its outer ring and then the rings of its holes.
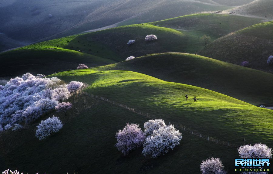
{"type": "Polygon", "coordinates": [[[122,130],[116,133],[116,148],[127,155],[131,150],[140,147],[145,141],[145,134],[139,125],[127,123],[122,130]]]}

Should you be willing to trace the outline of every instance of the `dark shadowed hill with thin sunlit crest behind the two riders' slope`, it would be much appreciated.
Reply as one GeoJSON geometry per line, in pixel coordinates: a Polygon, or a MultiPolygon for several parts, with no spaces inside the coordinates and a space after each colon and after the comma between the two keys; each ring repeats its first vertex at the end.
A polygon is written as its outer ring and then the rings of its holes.
{"type": "Polygon", "coordinates": [[[127,70],[162,80],[217,91],[257,105],[273,103],[273,75],[262,71],[185,54],[162,53],[141,56],[95,70],[127,70]]]}

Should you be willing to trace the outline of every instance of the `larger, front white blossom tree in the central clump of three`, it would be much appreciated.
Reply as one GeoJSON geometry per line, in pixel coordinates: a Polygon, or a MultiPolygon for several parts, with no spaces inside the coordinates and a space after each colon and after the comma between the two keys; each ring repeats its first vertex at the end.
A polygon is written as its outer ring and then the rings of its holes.
{"type": "Polygon", "coordinates": [[[174,128],[174,125],[161,127],[154,130],[152,135],[146,138],[142,154],[156,158],[161,154],[166,154],[170,149],[174,149],[180,144],[181,139],[182,135],[174,128]]]}

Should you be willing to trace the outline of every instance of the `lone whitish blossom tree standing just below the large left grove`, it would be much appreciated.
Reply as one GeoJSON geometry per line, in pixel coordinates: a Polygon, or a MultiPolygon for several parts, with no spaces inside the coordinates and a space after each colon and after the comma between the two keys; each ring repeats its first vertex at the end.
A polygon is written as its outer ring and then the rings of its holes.
{"type": "Polygon", "coordinates": [[[39,140],[45,139],[53,133],[58,132],[62,128],[62,125],[62,121],[60,121],[58,117],[53,116],[46,120],[42,120],[37,126],[35,136],[39,138],[39,140]]]}

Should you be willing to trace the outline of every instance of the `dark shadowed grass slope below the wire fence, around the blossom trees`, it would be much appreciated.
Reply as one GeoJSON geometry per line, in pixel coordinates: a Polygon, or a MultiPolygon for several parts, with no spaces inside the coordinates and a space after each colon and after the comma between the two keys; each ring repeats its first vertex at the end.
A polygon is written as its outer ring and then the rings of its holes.
{"type": "Polygon", "coordinates": [[[124,157],[114,147],[116,132],[127,122],[140,124],[144,130],[143,124],[149,118],[84,95],[70,101],[73,109],[66,117],[54,114],[64,123],[56,135],[39,141],[35,125],[2,135],[0,139],[7,145],[3,148],[1,144],[0,170],[9,167],[24,173],[200,173],[200,163],[210,157],[220,157],[225,169],[234,170],[237,148],[217,145],[181,130],[180,145],[166,155],[149,159],[137,149],[124,157]]]}

